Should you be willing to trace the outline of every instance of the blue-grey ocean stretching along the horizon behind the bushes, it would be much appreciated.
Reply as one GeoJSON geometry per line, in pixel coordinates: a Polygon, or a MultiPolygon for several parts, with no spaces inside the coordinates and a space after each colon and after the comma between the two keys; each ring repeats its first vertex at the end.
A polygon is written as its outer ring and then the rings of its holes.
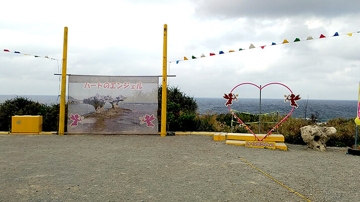
{"type": "MultiPolygon", "coordinates": [[[[0,95],[0,103],[17,95],[0,95]]],[[[18,95],[28,97],[36,102],[50,105],[58,104],[60,97],[57,95],[18,95]]],[[[221,114],[228,113],[228,107],[225,107],[224,98],[196,98],[199,114],[221,114]]],[[[320,122],[326,122],[335,118],[355,118],[357,110],[357,100],[327,100],[327,99],[309,99],[307,110],[305,110],[306,99],[297,101],[298,108],[294,109],[292,116],[296,118],[309,118],[311,114],[318,114],[320,122]],[[306,116],[306,117],[305,117],[306,116]]],[[[246,113],[259,113],[259,98],[241,98],[238,102],[234,101],[231,109],[246,113]]],[[[292,107],[289,103],[284,103],[284,99],[262,99],[261,113],[278,111],[280,115],[289,113],[292,107]]]]}

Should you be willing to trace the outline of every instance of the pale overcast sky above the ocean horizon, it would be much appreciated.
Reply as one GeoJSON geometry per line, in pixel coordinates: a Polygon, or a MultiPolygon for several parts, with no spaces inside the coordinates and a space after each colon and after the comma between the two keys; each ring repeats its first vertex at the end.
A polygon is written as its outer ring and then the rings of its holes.
{"type": "MultiPolygon", "coordinates": [[[[169,63],[168,74],[176,75],[169,84],[187,94],[221,97],[239,83],[281,82],[310,99],[355,100],[360,33],[341,34],[360,31],[359,11],[357,0],[3,1],[0,50],[62,59],[67,26],[67,73],[162,75],[167,24],[167,60],[189,58],[169,63]],[[321,34],[326,38],[317,39],[321,34]],[[281,44],[295,38],[301,42],[281,44]],[[201,54],[207,57],[191,59],[201,54]]],[[[0,94],[58,94],[53,74],[61,61],[11,52],[0,51],[0,94]]],[[[269,86],[262,96],[287,92],[269,86]]],[[[255,98],[259,90],[244,86],[236,93],[255,98]]]]}

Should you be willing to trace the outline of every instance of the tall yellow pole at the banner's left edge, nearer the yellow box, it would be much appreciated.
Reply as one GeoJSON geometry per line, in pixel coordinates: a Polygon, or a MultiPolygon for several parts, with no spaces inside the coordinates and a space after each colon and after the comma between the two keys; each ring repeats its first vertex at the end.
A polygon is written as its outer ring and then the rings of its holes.
{"type": "Polygon", "coordinates": [[[64,28],[63,70],[61,75],[61,96],[59,114],[59,135],[65,132],[66,62],[68,56],[68,27],[64,28]]]}

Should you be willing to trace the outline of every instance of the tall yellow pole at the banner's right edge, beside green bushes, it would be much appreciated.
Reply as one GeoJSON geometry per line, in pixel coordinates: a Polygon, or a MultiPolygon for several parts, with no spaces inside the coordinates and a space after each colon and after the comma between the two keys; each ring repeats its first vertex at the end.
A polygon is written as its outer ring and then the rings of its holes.
{"type": "Polygon", "coordinates": [[[166,136],[166,92],[167,92],[167,25],[164,25],[164,49],[162,58],[162,96],[161,96],[161,132],[160,136],[166,136]]]}

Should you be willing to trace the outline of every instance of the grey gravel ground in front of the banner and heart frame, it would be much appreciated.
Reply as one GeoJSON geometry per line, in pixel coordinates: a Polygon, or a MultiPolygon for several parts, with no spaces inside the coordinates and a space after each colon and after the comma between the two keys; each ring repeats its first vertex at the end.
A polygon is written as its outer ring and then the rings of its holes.
{"type": "Polygon", "coordinates": [[[0,201],[359,201],[360,157],[206,135],[0,135],[0,201]]]}

